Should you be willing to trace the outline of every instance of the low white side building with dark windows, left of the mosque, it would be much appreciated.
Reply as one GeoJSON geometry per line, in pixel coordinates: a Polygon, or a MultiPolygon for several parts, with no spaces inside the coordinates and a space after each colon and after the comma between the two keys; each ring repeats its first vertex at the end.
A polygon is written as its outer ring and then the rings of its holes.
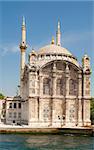
{"type": "Polygon", "coordinates": [[[21,124],[21,98],[6,97],[6,124],[21,124]]]}

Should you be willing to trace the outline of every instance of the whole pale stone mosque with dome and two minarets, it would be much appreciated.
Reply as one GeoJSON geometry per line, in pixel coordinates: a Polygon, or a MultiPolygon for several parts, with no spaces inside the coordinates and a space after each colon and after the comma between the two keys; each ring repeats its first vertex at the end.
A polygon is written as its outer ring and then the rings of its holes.
{"type": "Polygon", "coordinates": [[[23,124],[31,127],[90,126],[90,59],[80,66],[68,49],[61,46],[60,22],[56,44],[26,54],[26,25],[22,22],[20,43],[20,96],[23,124]]]}

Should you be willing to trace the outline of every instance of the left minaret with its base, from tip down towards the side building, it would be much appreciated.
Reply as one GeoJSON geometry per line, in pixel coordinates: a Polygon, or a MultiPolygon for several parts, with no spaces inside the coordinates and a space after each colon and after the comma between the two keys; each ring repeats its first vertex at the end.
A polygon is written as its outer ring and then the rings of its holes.
{"type": "Polygon", "coordinates": [[[20,43],[20,96],[23,97],[23,73],[24,73],[24,67],[25,67],[25,53],[26,53],[26,25],[25,25],[25,18],[22,19],[22,37],[21,37],[21,43],[20,43]]]}

